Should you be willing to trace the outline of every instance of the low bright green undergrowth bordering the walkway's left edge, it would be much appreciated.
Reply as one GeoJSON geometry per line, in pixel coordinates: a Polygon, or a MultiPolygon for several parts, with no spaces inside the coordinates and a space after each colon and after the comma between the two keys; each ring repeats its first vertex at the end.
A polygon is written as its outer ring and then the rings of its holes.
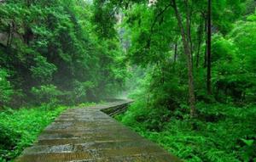
{"type": "Polygon", "coordinates": [[[43,104],[36,108],[0,111],[0,162],[11,161],[24,148],[32,146],[44,128],[64,110],[91,105],[95,103],[81,103],[76,107],[43,104]]]}

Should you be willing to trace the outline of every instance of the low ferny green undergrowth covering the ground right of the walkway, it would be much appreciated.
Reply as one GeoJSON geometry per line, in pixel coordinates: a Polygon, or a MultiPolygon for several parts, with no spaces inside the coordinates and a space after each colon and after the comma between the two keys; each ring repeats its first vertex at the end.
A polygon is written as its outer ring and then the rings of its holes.
{"type": "Polygon", "coordinates": [[[256,107],[198,103],[198,118],[137,101],[116,117],[143,137],[189,162],[256,161],[256,107]],[[191,126],[194,123],[195,126],[191,126]]]}

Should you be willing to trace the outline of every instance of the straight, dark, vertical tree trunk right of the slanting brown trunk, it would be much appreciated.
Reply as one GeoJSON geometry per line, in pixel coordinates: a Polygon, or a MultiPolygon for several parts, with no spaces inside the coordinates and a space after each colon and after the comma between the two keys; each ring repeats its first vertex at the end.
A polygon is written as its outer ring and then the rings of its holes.
{"type": "Polygon", "coordinates": [[[208,0],[208,14],[207,14],[207,93],[208,95],[212,94],[211,45],[212,45],[212,0],[208,0]]]}

